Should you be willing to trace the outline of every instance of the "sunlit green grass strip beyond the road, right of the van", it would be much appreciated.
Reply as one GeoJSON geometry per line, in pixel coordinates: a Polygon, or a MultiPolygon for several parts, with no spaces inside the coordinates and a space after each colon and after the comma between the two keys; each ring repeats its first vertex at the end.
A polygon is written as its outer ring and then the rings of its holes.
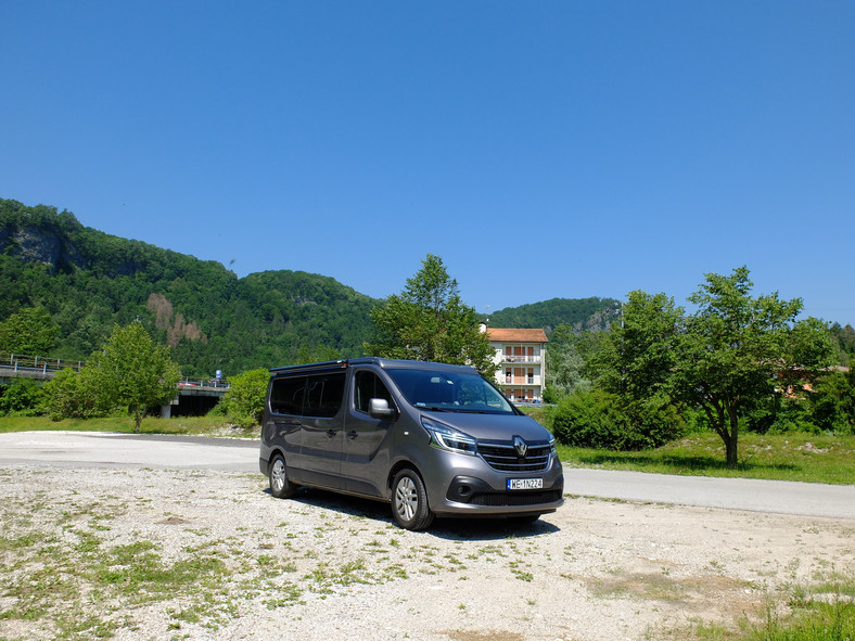
{"type": "Polygon", "coordinates": [[[855,436],[744,434],[739,439],[736,467],[725,463],[724,445],[715,434],[694,434],[640,452],[561,445],[558,452],[567,467],[855,484],[855,436]]]}

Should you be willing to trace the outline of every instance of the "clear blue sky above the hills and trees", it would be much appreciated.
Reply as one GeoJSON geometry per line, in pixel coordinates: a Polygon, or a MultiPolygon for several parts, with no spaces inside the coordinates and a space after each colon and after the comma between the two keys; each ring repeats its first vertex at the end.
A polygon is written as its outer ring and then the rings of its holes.
{"type": "MultiPolygon", "coordinates": [[[[0,0],[0,197],[478,311],[755,293],[855,324],[855,2],[0,0]]],[[[232,262],[233,261],[233,262],[232,262]]]]}

